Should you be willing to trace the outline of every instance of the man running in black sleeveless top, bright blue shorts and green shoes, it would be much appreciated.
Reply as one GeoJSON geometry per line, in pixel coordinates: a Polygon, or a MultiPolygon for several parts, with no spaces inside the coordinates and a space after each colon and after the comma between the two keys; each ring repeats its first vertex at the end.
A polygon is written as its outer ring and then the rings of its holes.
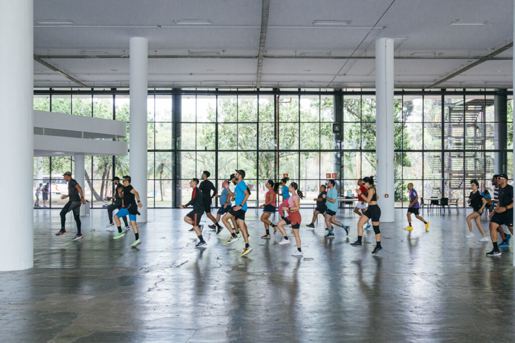
{"type": "Polygon", "coordinates": [[[114,222],[116,223],[116,227],[118,228],[118,233],[113,239],[118,239],[125,236],[125,232],[122,231],[122,224],[120,224],[120,217],[129,216],[130,225],[132,226],[132,230],[134,231],[135,241],[130,246],[135,248],[136,246],[141,244],[140,233],[138,231],[138,225],[136,225],[136,214],[140,214],[138,211],[138,207],[142,207],[140,201],[140,194],[136,192],[134,187],[131,186],[131,177],[129,175],[125,175],[123,177],[123,197],[122,197],[122,209],[116,212],[114,215],[114,222]],[[136,204],[136,201],[138,203],[136,204]]]}

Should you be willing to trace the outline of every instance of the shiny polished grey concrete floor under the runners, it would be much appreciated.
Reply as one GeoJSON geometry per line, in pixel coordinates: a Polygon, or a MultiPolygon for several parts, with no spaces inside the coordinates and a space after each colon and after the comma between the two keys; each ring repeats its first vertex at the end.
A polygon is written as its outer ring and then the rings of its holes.
{"type": "MultiPolygon", "coordinates": [[[[351,225],[334,240],[301,228],[302,258],[280,234],[264,233],[254,211],[248,226],[254,250],[240,257],[243,240],[225,242],[204,230],[206,249],[182,219],[187,210],[149,210],[119,240],[105,228],[106,210],[82,219],[84,239],[59,230],[58,210],[34,214],[34,268],[0,273],[1,341],[513,341],[515,288],[512,249],[487,258],[491,244],[465,238],[460,214],[426,215],[407,232],[405,210],[383,224],[377,256],[373,234],[363,248],[351,225]]],[[[302,210],[308,223],[311,210],[302,210]]],[[[260,213],[261,214],[261,213],[260,213]]],[[[249,218],[250,217],[250,218],[249,218]]],[[[205,222],[205,216],[203,218],[205,222]]],[[[484,227],[487,222],[484,221],[484,227]]],[[[5,242],[8,244],[8,242],[5,242]]]]}

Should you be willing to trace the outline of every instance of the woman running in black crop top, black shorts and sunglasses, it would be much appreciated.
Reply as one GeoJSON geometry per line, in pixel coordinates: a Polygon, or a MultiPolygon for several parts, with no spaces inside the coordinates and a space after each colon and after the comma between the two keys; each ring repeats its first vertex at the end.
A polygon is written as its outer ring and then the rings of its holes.
{"type": "Polygon", "coordinates": [[[365,195],[361,190],[356,189],[356,192],[362,196],[363,200],[368,203],[368,208],[365,213],[359,218],[357,222],[357,241],[351,243],[352,246],[361,246],[361,240],[363,238],[363,224],[372,219],[372,228],[375,233],[375,248],[372,254],[377,254],[383,247],[381,246],[381,231],[379,230],[379,218],[381,217],[381,209],[377,205],[377,194],[375,192],[374,177],[364,177],[363,183],[367,192],[365,195]]]}

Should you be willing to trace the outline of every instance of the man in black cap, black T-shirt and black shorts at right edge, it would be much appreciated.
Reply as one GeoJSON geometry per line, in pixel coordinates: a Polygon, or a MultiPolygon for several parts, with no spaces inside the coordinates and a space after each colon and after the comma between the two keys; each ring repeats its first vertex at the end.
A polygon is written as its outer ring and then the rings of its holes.
{"type": "Polygon", "coordinates": [[[497,228],[506,225],[511,234],[513,234],[513,186],[508,185],[508,176],[506,174],[499,175],[499,197],[495,213],[490,222],[490,238],[492,239],[493,250],[487,252],[487,256],[501,255],[499,247],[497,247],[497,228]]]}

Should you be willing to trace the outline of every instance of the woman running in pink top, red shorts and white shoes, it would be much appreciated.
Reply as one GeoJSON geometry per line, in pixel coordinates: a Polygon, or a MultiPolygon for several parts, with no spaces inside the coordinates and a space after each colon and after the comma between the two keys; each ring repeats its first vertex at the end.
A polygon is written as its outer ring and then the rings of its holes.
{"type": "MultiPolygon", "coordinates": [[[[283,188],[284,189],[284,188],[283,188]]],[[[279,244],[288,244],[290,240],[288,239],[288,236],[286,236],[286,231],[284,230],[284,225],[290,225],[293,229],[293,234],[295,236],[295,241],[297,242],[297,251],[294,252],[294,254],[291,254],[291,256],[302,256],[302,249],[300,248],[300,236],[299,236],[299,227],[300,222],[302,220],[300,216],[300,199],[304,198],[304,195],[299,190],[299,185],[297,183],[292,182],[290,183],[288,187],[289,192],[291,193],[291,196],[288,198],[288,204],[286,206],[283,206],[281,209],[283,211],[288,211],[289,215],[282,219],[279,223],[277,223],[277,227],[279,228],[279,231],[283,234],[283,239],[279,244]],[[297,192],[297,193],[295,193],[297,192]]]]}

